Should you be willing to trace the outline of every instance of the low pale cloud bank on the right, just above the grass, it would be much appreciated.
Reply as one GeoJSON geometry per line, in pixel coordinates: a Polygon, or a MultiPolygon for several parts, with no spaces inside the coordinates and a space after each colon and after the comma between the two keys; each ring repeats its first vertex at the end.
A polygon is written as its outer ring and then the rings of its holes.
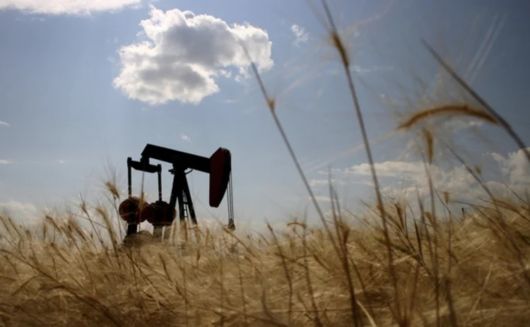
{"type": "MultiPolygon", "coordinates": [[[[530,150],[530,148],[528,148],[530,150]]],[[[512,197],[512,192],[524,196],[530,187],[530,164],[524,155],[524,150],[508,153],[506,156],[490,153],[489,159],[497,163],[493,175],[486,177],[481,174],[484,184],[494,196],[512,197]]],[[[469,174],[466,167],[457,165],[451,169],[443,169],[437,165],[428,167],[432,184],[437,191],[447,191],[454,200],[474,203],[478,197],[488,198],[482,186],[469,174]]],[[[375,170],[379,178],[382,192],[385,196],[406,199],[408,203],[417,202],[417,194],[429,197],[428,179],[425,165],[420,161],[387,161],[375,163],[375,170]]],[[[327,172],[320,172],[327,174],[327,172]]],[[[363,163],[353,165],[344,170],[332,170],[334,184],[359,184],[371,181],[370,165],[363,163]],[[353,180],[354,182],[349,182],[353,180]],[[339,182],[339,183],[337,183],[339,182]]],[[[311,186],[324,190],[328,187],[326,179],[313,179],[311,186]]]]}

